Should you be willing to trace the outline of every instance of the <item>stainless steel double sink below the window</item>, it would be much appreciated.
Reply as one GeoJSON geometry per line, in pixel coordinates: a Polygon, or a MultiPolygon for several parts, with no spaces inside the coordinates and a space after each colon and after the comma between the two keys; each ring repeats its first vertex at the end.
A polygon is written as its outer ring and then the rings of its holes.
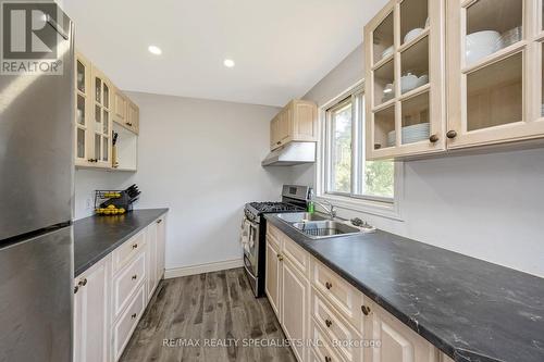
{"type": "Polygon", "coordinates": [[[279,214],[277,217],[289,224],[299,233],[311,239],[326,239],[339,236],[361,234],[361,229],[345,224],[338,220],[331,220],[321,214],[310,214],[306,212],[295,212],[279,214]]]}

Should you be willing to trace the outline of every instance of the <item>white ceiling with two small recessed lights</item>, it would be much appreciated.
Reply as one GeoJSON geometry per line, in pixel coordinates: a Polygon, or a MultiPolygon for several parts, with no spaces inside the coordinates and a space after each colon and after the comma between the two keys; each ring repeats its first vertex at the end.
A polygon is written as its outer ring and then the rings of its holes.
{"type": "Polygon", "coordinates": [[[268,105],[304,96],[361,42],[385,2],[62,1],[78,50],[120,88],[268,105]]]}

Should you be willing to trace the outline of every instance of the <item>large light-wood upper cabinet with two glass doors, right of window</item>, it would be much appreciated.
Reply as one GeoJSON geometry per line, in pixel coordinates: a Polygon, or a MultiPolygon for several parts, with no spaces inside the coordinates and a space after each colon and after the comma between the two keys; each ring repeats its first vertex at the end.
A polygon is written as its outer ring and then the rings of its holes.
{"type": "Polygon", "coordinates": [[[542,0],[392,0],[364,28],[368,159],[544,138],[542,17],[542,0]]]}

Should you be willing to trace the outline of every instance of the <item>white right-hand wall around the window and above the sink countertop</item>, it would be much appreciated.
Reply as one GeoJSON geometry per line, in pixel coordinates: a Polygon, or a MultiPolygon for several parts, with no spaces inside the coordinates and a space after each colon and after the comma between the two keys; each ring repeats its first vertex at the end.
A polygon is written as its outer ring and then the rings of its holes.
{"type": "MultiPolygon", "coordinates": [[[[323,104],[363,77],[357,48],[305,99],[323,104]]],[[[316,167],[294,182],[314,184],[316,167]]],[[[544,149],[405,163],[403,221],[341,210],[379,228],[544,277],[544,149]]]]}

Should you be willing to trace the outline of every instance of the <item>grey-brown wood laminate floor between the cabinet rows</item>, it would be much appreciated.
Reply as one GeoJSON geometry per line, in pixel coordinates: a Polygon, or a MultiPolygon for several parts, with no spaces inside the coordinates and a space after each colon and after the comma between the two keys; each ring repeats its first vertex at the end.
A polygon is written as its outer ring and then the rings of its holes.
{"type": "Polygon", "coordinates": [[[296,361],[284,338],[268,299],[235,269],[162,280],[120,362],[296,361]]]}

